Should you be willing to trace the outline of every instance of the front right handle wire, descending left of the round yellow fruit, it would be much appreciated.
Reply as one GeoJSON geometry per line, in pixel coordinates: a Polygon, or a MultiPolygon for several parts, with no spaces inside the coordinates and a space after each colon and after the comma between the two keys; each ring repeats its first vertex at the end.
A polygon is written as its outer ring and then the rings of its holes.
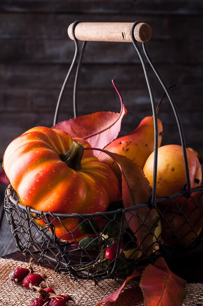
{"type": "Polygon", "coordinates": [[[155,205],[155,200],[156,200],[156,187],[157,187],[157,162],[158,162],[158,123],[157,123],[157,112],[156,112],[156,106],[155,106],[155,102],[154,102],[154,95],[153,95],[153,90],[151,87],[151,83],[150,83],[150,79],[149,79],[149,75],[148,75],[148,70],[146,67],[146,64],[144,62],[144,58],[142,56],[142,53],[137,45],[137,41],[135,39],[134,36],[134,29],[136,27],[136,25],[140,23],[139,21],[133,23],[132,27],[131,27],[131,39],[133,42],[133,45],[140,57],[141,60],[141,64],[142,64],[142,68],[144,71],[144,76],[146,79],[146,84],[148,87],[148,91],[149,91],[149,96],[150,96],[150,100],[151,100],[151,105],[152,105],[152,113],[153,113],[153,119],[154,119],[154,173],[153,173],[153,189],[152,189],[152,196],[151,196],[151,207],[154,207],[155,205]]]}

